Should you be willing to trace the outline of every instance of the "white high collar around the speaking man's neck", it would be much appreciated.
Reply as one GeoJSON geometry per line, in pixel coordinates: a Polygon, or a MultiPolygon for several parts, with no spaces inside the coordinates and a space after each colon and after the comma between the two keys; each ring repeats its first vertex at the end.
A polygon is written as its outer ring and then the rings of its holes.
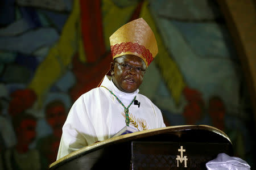
{"type": "Polygon", "coordinates": [[[139,89],[137,89],[133,93],[126,93],[120,91],[115,86],[112,79],[109,79],[108,76],[105,76],[102,82],[102,86],[106,86],[107,88],[109,88],[109,90],[111,90],[118,97],[118,99],[122,101],[123,104],[130,104],[134,97],[139,93],[139,89]]]}

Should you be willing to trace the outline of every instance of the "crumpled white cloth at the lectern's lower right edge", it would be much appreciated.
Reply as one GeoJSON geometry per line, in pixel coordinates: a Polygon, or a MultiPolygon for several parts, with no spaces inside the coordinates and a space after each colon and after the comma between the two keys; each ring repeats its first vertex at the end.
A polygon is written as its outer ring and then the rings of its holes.
{"type": "Polygon", "coordinates": [[[208,170],[250,170],[250,165],[241,158],[231,157],[224,153],[210,160],[206,167],[208,170]]]}

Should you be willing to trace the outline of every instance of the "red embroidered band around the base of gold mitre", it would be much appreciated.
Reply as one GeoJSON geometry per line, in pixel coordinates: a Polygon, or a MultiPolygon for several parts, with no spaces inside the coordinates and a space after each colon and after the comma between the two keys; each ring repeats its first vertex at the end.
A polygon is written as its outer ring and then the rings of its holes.
{"type": "Polygon", "coordinates": [[[137,52],[139,55],[142,55],[146,59],[148,65],[150,65],[150,63],[154,59],[152,57],[152,53],[150,53],[150,50],[146,49],[143,45],[139,45],[138,43],[122,42],[121,44],[111,45],[110,48],[113,58],[117,54],[126,52],[137,52]]]}

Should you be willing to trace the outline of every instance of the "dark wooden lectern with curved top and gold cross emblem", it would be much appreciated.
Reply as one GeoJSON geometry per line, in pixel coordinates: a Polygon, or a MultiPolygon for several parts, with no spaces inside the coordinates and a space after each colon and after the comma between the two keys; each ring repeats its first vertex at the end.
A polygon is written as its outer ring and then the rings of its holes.
{"type": "Polygon", "coordinates": [[[184,125],[138,131],[94,143],[49,169],[206,169],[219,153],[233,156],[228,136],[212,126],[184,125]]]}

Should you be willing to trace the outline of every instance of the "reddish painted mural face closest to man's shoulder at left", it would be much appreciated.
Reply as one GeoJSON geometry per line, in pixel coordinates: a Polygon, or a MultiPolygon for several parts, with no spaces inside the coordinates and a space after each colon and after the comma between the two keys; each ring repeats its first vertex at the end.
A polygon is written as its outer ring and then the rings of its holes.
{"type": "Polygon", "coordinates": [[[51,105],[46,109],[46,120],[53,129],[53,134],[56,137],[61,137],[61,128],[66,120],[65,107],[62,103],[51,105]]]}

